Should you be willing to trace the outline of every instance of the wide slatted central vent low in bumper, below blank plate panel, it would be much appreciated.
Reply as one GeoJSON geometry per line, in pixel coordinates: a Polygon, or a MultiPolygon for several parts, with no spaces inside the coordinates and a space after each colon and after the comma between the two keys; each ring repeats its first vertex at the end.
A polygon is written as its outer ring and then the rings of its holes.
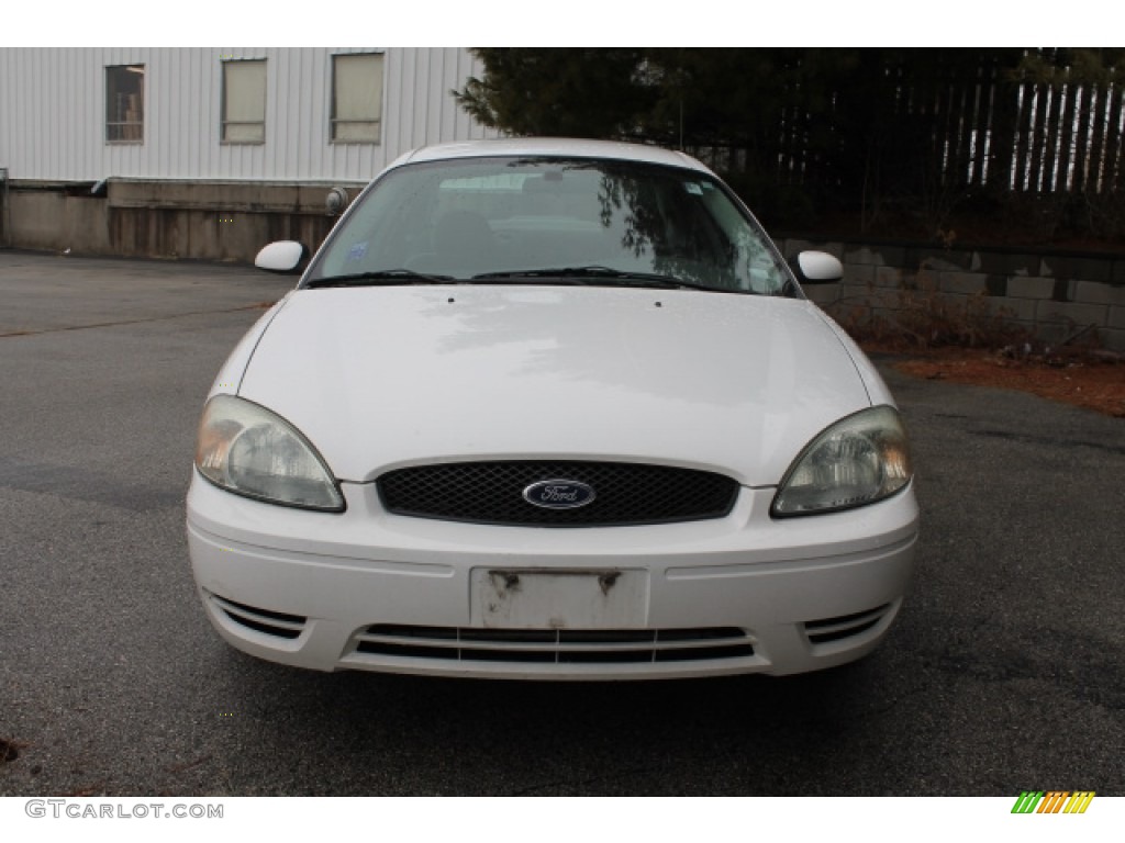
{"type": "Polygon", "coordinates": [[[406,659],[514,663],[651,663],[745,659],[744,629],[476,629],[376,624],[357,636],[357,652],[406,659]]]}

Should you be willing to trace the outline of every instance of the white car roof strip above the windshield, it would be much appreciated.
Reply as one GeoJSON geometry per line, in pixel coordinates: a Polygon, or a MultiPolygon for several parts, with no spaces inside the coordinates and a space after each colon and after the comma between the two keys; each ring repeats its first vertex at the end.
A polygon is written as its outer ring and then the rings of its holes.
{"type": "Polygon", "coordinates": [[[489,157],[496,155],[521,155],[570,158],[613,158],[618,161],[640,161],[667,166],[687,167],[702,173],[711,171],[682,152],[665,149],[647,144],[627,144],[616,140],[590,140],[559,137],[504,137],[490,140],[465,140],[451,144],[435,144],[412,149],[400,156],[390,167],[428,161],[451,158],[489,157]]]}

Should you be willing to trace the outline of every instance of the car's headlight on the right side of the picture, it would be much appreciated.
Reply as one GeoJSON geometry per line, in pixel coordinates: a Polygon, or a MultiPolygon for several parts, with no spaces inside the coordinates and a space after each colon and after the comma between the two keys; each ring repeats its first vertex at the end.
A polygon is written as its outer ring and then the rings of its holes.
{"type": "Polygon", "coordinates": [[[793,461],[774,497],[777,517],[873,504],[910,482],[910,447],[893,407],[872,407],[837,422],[793,461]]]}

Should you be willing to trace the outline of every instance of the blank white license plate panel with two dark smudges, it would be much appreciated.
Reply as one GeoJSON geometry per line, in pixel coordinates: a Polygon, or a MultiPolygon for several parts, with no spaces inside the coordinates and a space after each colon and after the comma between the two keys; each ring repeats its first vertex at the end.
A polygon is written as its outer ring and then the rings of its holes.
{"type": "Polygon", "coordinates": [[[475,568],[471,600],[477,626],[639,628],[648,617],[648,572],[475,568]]]}

